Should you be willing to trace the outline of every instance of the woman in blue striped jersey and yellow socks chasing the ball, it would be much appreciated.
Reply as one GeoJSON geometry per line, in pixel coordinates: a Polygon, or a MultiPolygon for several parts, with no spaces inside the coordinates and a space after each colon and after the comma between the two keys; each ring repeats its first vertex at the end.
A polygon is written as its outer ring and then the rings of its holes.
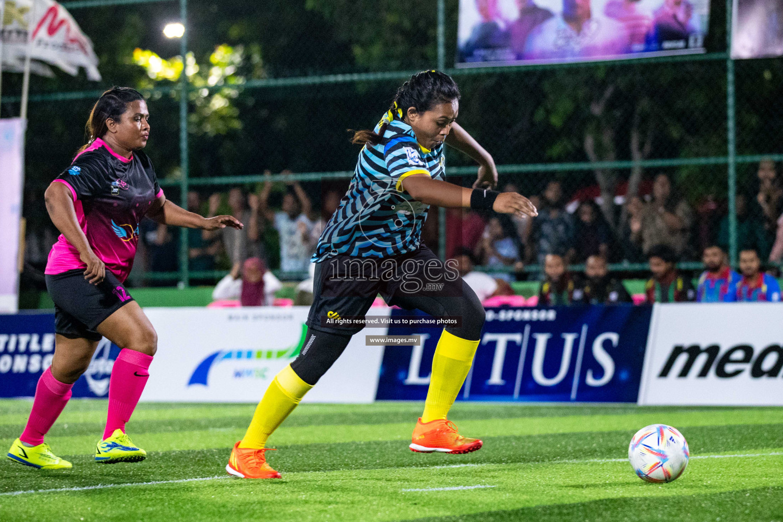
{"type": "Polygon", "coordinates": [[[390,306],[455,320],[438,340],[424,413],[410,449],[468,453],[482,447],[481,440],[461,436],[446,415],[471,368],[484,309],[456,265],[442,262],[421,243],[421,227],[431,205],[537,213],[524,196],[492,190],[497,183],[493,158],[456,123],[459,109],[460,90],[453,79],[428,70],[398,89],[373,131],[355,132],[352,142],[363,148],[350,188],[312,257],[316,274],[305,344],[269,385],[247,434],[234,445],[229,473],[280,477],[265,460],[267,437],[362,329],[351,318],[363,318],[378,293],[390,306]],[[472,189],[446,182],[445,145],[478,163],[472,189]]]}

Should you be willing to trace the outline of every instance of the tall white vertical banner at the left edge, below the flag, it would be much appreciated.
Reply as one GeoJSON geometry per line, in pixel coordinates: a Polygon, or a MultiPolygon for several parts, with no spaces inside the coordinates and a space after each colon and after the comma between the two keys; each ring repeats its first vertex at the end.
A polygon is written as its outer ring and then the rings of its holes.
{"type": "Polygon", "coordinates": [[[0,120],[0,314],[13,314],[19,305],[23,151],[24,122],[20,118],[0,120]]]}

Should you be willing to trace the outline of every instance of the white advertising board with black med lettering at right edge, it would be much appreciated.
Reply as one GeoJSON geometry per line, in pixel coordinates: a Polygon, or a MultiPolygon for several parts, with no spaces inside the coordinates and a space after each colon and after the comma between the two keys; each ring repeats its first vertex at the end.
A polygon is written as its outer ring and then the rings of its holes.
{"type": "Polygon", "coordinates": [[[777,303],[655,304],[640,405],[783,405],[777,303]]]}

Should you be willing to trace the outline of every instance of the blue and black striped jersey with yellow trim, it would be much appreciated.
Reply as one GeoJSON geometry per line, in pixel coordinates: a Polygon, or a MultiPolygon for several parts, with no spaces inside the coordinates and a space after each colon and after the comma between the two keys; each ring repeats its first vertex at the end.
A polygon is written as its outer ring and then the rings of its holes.
{"type": "Polygon", "coordinates": [[[400,113],[386,113],[375,127],[378,132],[388,121],[381,143],[359,153],[348,193],[324,227],[312,261],[337,254],[391,257],[419,248],[429,205],[413,200],[402,180],[413,174],[445,178],[443,145],[420,146],[400,113]]]}

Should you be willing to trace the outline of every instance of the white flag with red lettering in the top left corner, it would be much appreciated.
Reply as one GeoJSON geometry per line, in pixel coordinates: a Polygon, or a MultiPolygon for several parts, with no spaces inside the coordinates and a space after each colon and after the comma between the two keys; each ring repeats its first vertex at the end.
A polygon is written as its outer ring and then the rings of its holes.
{"type": "MultiPolygon", "coordinates": [[[[0,0],[2,2],[2,0],[0,0]]],[[[52,0],[5,0],[2,27],[2,67],[18,70],[27,54],[27,38],[32,31],[31,59],[60,67],[75,76],[84,67],[90,80],[100,80],[98,57],[90,41],[70,16],[52,0]]],[[[48,67],[31,68],[43,72],[48,67]]]]}

